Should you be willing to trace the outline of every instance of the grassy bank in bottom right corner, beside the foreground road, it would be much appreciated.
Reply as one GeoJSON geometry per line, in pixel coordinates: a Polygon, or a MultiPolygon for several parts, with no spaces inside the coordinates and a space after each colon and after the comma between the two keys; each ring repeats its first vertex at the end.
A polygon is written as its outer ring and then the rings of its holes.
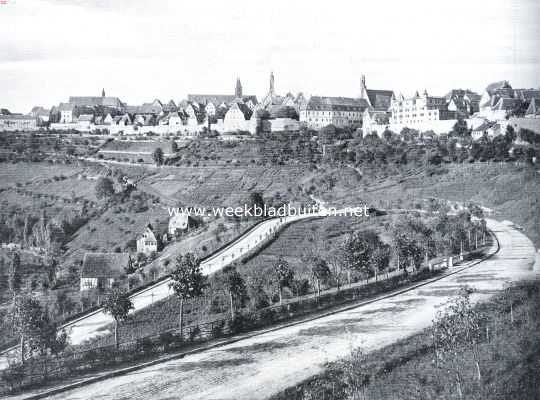
{"type": "MultiPolygon", "coordinates": [[[[489,326],[479,344],[482,379],[469,348],[458,347],[453,368],[462,372],[462,398],[540,398],[540,282],[513,286],[476,309],[489,326]]],[[[367,355],[354,351],[272,400],[459,399],[454,375],[444,365],[437,368],[434,357],[427,329],[367,355]]]]}

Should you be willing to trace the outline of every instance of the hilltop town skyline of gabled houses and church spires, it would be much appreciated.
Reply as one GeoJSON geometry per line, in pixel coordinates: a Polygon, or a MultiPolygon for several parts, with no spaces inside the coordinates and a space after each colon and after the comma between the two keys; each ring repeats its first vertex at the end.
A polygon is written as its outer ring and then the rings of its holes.
{"type": "Polygon", "coordinates": [[[189,94],[186,100],[167,103],[156,99],[130,106],[117,97],[72,96],[50,110],[34,107],[28,116],[0,115],[0,130],[32,130],[42,125],[54,129],[106,130],[111,134],[198,135],[218,133],[297,131],[305,126],[321,129],[362,127],[364,133],[382,133],[403,127],[446,133],[458,118],[471,127],[483,121],[502,121],[509,116],[538,118],[540,89],[513,89],[508,81],[495,82],[480,95],[468,89],[453,89],[444,96],[426,90],[412,97],[393,90],[369,89],[361,77],[358,97],[278,95],[275,77],[259,102],[244,95],[238,78],[234,94],[189,94]]]}

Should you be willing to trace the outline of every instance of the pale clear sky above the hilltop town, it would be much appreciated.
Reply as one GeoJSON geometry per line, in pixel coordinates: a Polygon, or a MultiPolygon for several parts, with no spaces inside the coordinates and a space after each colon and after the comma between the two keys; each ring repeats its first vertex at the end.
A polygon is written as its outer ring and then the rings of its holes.
{"type": "Polygon", "coordinates": [[[410,96],[540,87],[537,0],[5,0],[0,107],[69,96],[136,105],[188,93],[410,96]]]}

